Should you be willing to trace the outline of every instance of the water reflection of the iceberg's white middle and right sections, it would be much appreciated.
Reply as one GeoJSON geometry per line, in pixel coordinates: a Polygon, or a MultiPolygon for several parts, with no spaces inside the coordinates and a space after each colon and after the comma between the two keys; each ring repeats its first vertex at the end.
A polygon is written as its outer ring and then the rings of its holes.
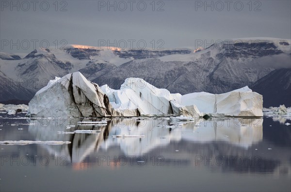
{"type": "Polygon", "coordinates": [[[145,119],[137,126],[132,126],[130,121],[124,119],[124,126],[113,125],[111,135],[146,135],[146,138],[109,138],[104,146],[119,145],[126,154],[143,154],[161,145],[167,145],[171,141],[187,140],[191,142],[208,143],[212,141],[224,141],[226,143],[248,148],[262,140],[263,129],[261,118],[212,118],[209,121],[196,119],[197,121],[183,124],[181,128],[166,129],[158,126],[161,122],[167,124],[167,120],[145,119]]]}

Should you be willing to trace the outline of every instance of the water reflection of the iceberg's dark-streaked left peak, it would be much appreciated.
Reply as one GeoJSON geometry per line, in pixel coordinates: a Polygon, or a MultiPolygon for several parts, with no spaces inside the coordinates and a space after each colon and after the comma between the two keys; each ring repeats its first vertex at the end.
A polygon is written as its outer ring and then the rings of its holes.
{"type": "Polygon", "coordinates": [[[29,132],[35,135],[35,140],[70,141],[67,146],[44,146],[50,154],[55,156],[65,156],[71,162],[81,162],[91,151],[97,150],[103,141],[104,135],[108,134],[108,126],[84,126],[77,125],[80,119],[62,118],[67,124],[76,125],[69,130],[66,125],[60,122],[60,118],[39,118],[33,120],[29,126],[29,132]],[[46,123],[43,123],[46,122],[46,123]],[[97,130],[95,134],[74,133],[58,134],[58,132],[73,132],[74,130],[97,130]],[[106,130],[106,131],[105,131],[106,130]]]}

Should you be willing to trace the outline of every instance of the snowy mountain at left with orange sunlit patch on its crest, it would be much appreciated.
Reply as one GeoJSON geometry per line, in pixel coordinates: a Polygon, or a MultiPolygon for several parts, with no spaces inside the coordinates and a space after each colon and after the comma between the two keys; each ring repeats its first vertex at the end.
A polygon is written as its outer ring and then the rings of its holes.
{"type": "Polygon", "coordinates": [[[1,91],[0,101],[32,99],[34,93],[55,76],[80,71],[89,80],[108,73],[122,63],[133,59],[155,58],[169,54],[189,54],[190,49],[177,50],[120,50],[107,47],[67,45],[64,48],[36,49],[25,57],[0,53],[0,77],[19,82],[20,89],[1,91]],[[23,58],[23,59],[21,59],[23,58]],[[30,92],[22,95],[23,89],[30,92]],[[11,94],[5,94],[10,92],[11,94]]]}

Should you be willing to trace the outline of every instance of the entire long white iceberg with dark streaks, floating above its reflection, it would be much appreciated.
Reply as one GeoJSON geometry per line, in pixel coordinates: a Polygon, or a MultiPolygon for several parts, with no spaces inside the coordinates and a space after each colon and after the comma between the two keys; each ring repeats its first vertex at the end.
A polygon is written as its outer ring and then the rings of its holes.
{"type": "MultiPolygon", "coordinates": [[[[80,72],[56,77],[36,92],[30,117],[262,117],[262,95],[248,87],[223,94],[181,95],[141,78],[127,78],[118,90],[99,87],[80,72]]],[[[92,123],[92,122],[90,122],[92,123]]]]}

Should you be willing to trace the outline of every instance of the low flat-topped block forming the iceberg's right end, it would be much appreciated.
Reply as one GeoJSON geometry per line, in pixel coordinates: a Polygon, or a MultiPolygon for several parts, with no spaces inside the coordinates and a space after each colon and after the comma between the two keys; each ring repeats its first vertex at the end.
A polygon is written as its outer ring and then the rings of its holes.
{"type": "Polygon", "coordinates": [[[215,117],[263,116],[263,97],[247,86],[222,94],[207,92],[189,93],[182,96],[182,105],[196,105],[197,108],[215,117]]]}

